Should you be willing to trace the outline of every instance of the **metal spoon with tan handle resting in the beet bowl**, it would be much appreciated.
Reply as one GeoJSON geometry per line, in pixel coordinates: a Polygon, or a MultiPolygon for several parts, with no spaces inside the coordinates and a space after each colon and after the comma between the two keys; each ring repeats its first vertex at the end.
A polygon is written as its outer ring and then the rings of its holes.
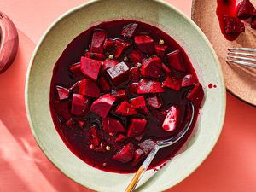
{"type": "Polygon", "coordinates": [[[140,168],[138,169],[135,176],[131,179],[131,182],[129,183],[129,185],[125,189],[125,192],[131,192],[136,188],[137,183],[143,177],[144,172],[147,171],[148,166],[150,165],[150,163],[154,159],[155,154],[157,154],[157,152],[159,151],[160,148],[166,148],[166,147],[169,147],[169,146],[173,145],[174,143],[177,143],[190,130],[190,127],[191,127],[191,125],[192,125],[192,123],[195,119],[195,107],[192,104],[192,102],[189,102],[189,103],[190,103],[190,106],[191,106],[192,114],[191,114],[191,119],[189,120],[188,124],[175,137],[172,137],[172,138],[169,138],[169,139],[166,139],[166,140],[160,140],[160,141],[157,142],[157,144],[154,146],[154,148],[148,154],[148,157],[146,158],[146,160],[144,160],[143,165],[140,166],[140,168]]]}

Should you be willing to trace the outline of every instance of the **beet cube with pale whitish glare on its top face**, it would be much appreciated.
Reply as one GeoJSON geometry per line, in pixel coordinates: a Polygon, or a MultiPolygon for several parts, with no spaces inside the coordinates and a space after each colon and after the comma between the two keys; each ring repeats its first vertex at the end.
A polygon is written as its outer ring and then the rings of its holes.
{"type": "Polygon", "coordinates": [[[125,64],[125,62],[120,62],[118,65],[107,70],[110,79],[116,86],[129,79],[129,72],[129,67],[125,64]]]}

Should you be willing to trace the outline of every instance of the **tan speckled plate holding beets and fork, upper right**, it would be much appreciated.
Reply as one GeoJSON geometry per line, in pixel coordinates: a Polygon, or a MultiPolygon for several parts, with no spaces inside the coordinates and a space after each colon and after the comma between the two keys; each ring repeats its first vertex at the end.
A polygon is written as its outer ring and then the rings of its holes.
{"type": "MultiPolygon", "coordinates": [[[[256,0],[251,0],[251,2],[256,5],[256,0]]],[[[216,8],[217,0],[194,0],[192,20],[212,43],[223,69],[227,89],[241,100],[256,106],[256,68],[228,65],[225,62],[227,48],[256,48],[256,30],[247,26],[246,32],[235,41],[226,40],[219,28],[216,8]]]]}

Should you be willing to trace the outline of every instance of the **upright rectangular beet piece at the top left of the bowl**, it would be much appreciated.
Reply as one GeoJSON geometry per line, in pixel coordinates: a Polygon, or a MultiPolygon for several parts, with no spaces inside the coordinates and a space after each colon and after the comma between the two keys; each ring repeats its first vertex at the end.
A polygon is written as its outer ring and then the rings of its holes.
{"type": "Polygon", "coordinates": [[[106,32],[102,30],[95,30],[91,38],[90,52],[102,54],[105,38],[106,32]]]}

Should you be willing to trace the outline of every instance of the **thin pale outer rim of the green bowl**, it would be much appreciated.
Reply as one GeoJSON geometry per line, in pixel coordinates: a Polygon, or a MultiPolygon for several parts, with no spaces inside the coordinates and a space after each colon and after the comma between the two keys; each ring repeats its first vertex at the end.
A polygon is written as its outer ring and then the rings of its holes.
{"type": "MultiPolygon", "coordinates": [[[[38,143],[39,148],[41,148],[41,150],[44,152],[45,156],[50,160],[50,162],[58,169],[60,170],[66,177],[70,178],[71,180],[73,180],[75,183],[79,183],[78,181],[74,180],[72,177],[69,177],[68,173],[65,170],[61,170],[56,164],[55,161],[53,160],[53,158],[45,152],[44,150],[44,146],[42,143],[39,142],[38,136],[35,133],[35,128],[32,124],[32,118],[31,118],[31,110],[29,108],[29,101],[28,101],[28,90],[29,90],[29,79],[30,79],[30,74],[32,71],[32,67],[33,67],[33,62],[34,59],[36,57],[36,55],[38,54],[38,49],[41,47],[41,44],[44,42],[44,39],[48,36],[49,32],[54,28],[54,26],[59,23],[62,19],[64,19],[65,17],[67,17],[68,15],[72,14],[73,12],[79,10],[79,9],[83,9],[85,6],[89,6],[90,4],[93,3],[97,3],[103,0],[90,0],[89,2],[86,3],[82,3],[72,9],[68,9],[65,13],[63,13],[62,15],[60,15],[57,19],[55,19],[46,29],[46,31],[43,33],[42,37],[39,39],[37,46],[35,47],[33,53],[32,53],[32,57],[31,60],[29,62],[29,65],[27,67],[27,72],[26,72],[26,83],[25,83],[25,107],[26,107],[26,117],[28,119],[28,123],[30,125],[30,128],[32,130],[32,135],[35,138],[36,142],[38,143]]],[[[218,67],[218,74],[219,74],[219,78],[221,79],[221,82],[223,83],[223,86],[221,86],[221,92],[223,93],[221,98],[222,98],[222,108],[221,108],[221,117],[219,120],[219,126],[220,128],[218,129],[217,132],[217,137],[214,141],[214,143],[212,143],[212,146],[207,148],[207,151],[205,154],[202,155],[201,160],[193,167],[190,169],[190,171],[188,172],[187,175],[182,176],[182,179],[180,179],[179,181],[176,181],[171,187],[174,187],[175,185],[177,185],[177,183],[182,182],[185,178],[189,177],[189,175],[191,175],[191,173],[195,172],[195,170],[201,166],[201,164],[207,159],[208,155],[212,152],[212,148],[214,148],[214,146],[216,145],[216,143],[218,142],[218,138],[220,136],[220,133],[223,130],[223,126],[224,126],[224,119],[225,119],[225,113],[226,113],[226,89],[225,89],[225,85],[224,85],[224,75],[222,73],[222,68],[220,65],[220,62],[218,60],[218,56],[215,52],[215,50],[212,47],[212,44],[210,43],[210,41],[208,40],[207,36],[201,31],[200,27],[197,26],[195,24],[195,22],[193,20],[191,20],[191,18],[189,18],[188,15],[185,15],[181,10],[177,9],[175,6],[173,6],[171,3],[166,3],[165,1],[162,0],[151,0],[155,3],[160,3],[161,5],[165,6],[168,9],[172,9],[173,11],[176,11],[177,14],[181,15],[185,20],[187,20],[189,22],[190,25],[195,27],[195,30],[200,34],[201,38],[205,41],[205,43],[207,43],[208,48],[211,50],[212,52],[212,56],[214,58],[214,60],[216,61],[216,65],[218,67]]],[[[134,173],[131,173],[134,174],[134,173]]],[[[80,185],[84,186],[84,184],[79,183],[80,185]]],[[[93,189],[93,185],[87,185],[84,186],[85,188],[88,189],[93,189]]],[[[143,188],[143,185],[140,187],[143,188]]],[[[162,185],[161,188],[159,188],[160,191],[162,190],[166,190],[166,189],[170,189],[170,186],[168,187],[168,185],[162,185]]]]}

